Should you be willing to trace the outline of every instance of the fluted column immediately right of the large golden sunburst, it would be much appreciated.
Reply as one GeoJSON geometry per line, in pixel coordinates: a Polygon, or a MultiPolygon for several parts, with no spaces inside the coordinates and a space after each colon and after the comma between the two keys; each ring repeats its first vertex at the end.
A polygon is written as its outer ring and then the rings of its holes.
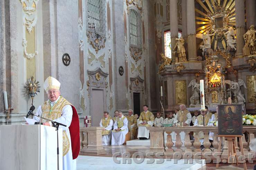
{"type": "Polygon", "coordinates": [[[245,45],[243,35],[245,33],[245,10],[244,1],[236,0],[236,30],[237,30],[237,52],[236,56],[243,56],[243,47],[245,45]]]}

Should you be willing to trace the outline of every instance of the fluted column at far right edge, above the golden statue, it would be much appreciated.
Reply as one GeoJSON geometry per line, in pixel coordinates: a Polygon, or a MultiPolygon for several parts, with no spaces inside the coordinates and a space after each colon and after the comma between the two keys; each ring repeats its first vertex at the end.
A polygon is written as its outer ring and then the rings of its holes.
{"type": "Polygon", "coordinates": [[[246,27],[247,30],[251,25],[256,26],[256,1],[246,0],[246,27]]]}

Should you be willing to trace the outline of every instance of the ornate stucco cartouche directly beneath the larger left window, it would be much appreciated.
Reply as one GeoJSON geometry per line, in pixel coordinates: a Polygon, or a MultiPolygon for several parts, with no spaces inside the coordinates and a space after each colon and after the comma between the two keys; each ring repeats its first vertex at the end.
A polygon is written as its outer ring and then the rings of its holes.
{"type": "Polygon", "coordinates": [[[105,48],[105,42],[106,42],[105,37],[102,37],[98,34],[96,35],[95,33],[91,32],[89,30],[86,32],[86,35],[88,38],[88,42],[95,49],[96,53],[98,53],[98,51],[100,49],[105,48]]]}

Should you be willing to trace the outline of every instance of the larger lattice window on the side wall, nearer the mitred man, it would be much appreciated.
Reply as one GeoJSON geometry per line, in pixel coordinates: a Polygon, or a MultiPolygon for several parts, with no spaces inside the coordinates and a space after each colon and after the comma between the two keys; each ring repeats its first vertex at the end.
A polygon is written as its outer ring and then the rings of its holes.
{"type": "Polygon", "coordinates": [[[87,29],[103,37],[106,36],[106,0],[87,0],[87,29]]]}

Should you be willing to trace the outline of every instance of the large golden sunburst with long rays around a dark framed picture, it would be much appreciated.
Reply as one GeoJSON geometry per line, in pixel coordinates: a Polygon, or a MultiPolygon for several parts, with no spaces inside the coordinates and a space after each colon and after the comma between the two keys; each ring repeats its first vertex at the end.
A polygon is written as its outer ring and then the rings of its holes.
{"type": "Polygon", "coordinates": [[[211,42],[213,43],[214,50],[217,48],[217,42],[222,42],[224,49],[226,49],[225,33],[229,27],[235,30],[236,16],[235,16],[235,0],[196,0],[204,9],[201,11],[195,8],[195,12],[200,14],[201,17],[195,17],[196,24],[200,25],[196,29],[197,34],[215,33],[212,36],[211,42]]]}

